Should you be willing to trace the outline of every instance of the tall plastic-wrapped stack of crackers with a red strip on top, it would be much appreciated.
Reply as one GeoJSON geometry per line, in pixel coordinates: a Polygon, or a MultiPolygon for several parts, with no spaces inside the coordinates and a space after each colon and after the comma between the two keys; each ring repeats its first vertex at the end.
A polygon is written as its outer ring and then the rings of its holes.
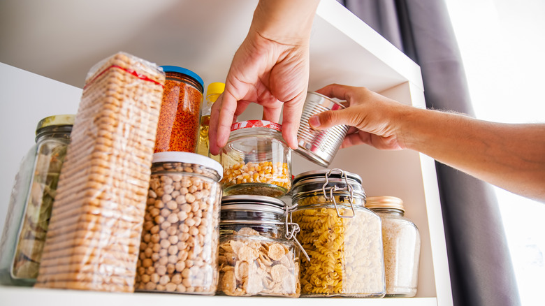
{"type": "Polygon", "coordinates": [[[37,287],[134,291],[164,82],[126,53],[89,71],[37,287]]]}

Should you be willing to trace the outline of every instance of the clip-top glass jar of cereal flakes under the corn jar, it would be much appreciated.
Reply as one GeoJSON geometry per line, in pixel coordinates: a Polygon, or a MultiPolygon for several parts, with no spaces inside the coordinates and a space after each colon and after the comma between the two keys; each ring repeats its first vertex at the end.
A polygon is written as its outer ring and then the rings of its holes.
{"type": "MultiPolygon", "coordinates": [[[[227,296],[300,294],[297,224],[268,196],[224,196],[219,224],[219,286],[227,296]]],[[[298,247],[299,246],[299,247],[298,247]]]]}

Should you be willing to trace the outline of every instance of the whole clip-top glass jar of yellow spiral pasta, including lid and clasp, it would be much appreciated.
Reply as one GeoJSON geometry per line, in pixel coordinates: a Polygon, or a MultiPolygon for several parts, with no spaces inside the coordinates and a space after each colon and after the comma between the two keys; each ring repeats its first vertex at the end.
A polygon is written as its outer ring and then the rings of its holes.
{"type": "Polygon", "coordinates": [[[359,175],[332,169],[296,176],[293,209],[310,258],[301,258],[301,296],[384,296],[381,221],[365,208],[359,175]]]}

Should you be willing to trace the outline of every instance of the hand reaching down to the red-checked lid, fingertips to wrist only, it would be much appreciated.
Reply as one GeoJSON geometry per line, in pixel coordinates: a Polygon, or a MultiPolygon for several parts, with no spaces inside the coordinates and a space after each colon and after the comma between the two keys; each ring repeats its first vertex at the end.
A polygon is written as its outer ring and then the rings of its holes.
{"type": "Polygon", "coordinates": [[[278,122],[282,136],[297,148],[297,130],[308,87],[308,44],[284,45],[261,36],[247,38],[233,57],[225,91],[210,113],[210,152],[226,144],[231,124],[249,103],[263,106],[263,119],[278,122]]]}

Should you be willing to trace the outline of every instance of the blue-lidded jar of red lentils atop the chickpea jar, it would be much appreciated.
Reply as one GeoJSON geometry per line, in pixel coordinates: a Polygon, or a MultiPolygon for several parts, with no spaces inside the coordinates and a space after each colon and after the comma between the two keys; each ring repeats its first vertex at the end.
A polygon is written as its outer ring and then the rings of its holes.
{"type": "Polygon", "coordinates": [[[186,68],[161,68],[166,74],[166,81],[154,152],[195,153],[203,103],[203,79],[186,68]]]}

